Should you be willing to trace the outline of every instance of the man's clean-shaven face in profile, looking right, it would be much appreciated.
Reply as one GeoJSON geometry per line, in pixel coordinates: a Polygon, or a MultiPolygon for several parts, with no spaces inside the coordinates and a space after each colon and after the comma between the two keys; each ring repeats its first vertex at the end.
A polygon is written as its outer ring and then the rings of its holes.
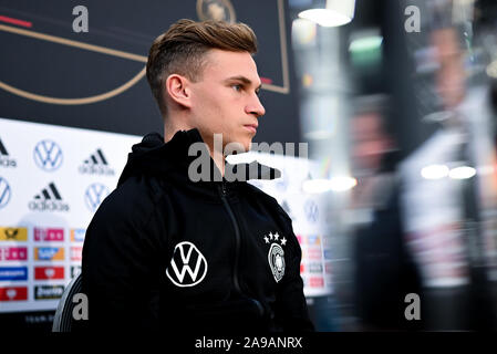
{"type": "Polygon", "coordinates": [[[190,86],[193,125],[210,147],[214,134],[222,134],[222,147],[239,143],[248,152],[266,112],[256,63],[248,52],[210,50],[206,56],[200,81],[190,86]]]}

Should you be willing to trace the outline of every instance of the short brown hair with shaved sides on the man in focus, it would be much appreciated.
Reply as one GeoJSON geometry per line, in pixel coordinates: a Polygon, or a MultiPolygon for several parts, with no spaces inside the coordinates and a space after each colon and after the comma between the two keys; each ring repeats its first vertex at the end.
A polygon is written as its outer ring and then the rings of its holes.
{"type": "Polygon", "coordinates": [[[163,115],[166,113],[163,85],[170,74],[193,82],[201,80],[205,54],[211,49],[257,52],[257,39],[245,23],[182,19],[157,37],[148,52],[147,80],[163,115]]]}

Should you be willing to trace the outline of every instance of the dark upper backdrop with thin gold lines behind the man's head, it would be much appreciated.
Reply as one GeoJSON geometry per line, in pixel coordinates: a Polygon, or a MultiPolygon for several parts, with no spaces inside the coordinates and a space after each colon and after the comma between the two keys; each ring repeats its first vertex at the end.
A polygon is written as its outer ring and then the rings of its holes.
{"type": "MultiPolygon", "coordinates": [[[[278,0],[232,0],[236,20],[252,27],[259,41],[259,75],[282,86],[278,0]]],[[[281,1],[287,11],[287,2],[281,1]]],[[[152,41],[180,18],[198,20],[196,0],[0,1],[0,15],[32,23],[23,28],[69,40],[147,56],[152,41]],[[89,10],[89,32],[72,29],[73,8],[89,10]]],[[[292,75],[290,28],[284,19],[292,75]]],[[[60,98],[94,96],[114,90],[135,76],[145,63],[0,31],[0,81],[30,93],[60,98]]],[[[290,93],[262,90],[266,116],[255,142],[298,142],[297,100],[290,93]],[[283,127],[283,128],[282,128],[283,127]]],[[[93,104],[59,105],[23,98],[0,88],[0,116],[96,131],[144,135],[163,132],[162,118],[146,77],[122,94],[93,104]]]]}

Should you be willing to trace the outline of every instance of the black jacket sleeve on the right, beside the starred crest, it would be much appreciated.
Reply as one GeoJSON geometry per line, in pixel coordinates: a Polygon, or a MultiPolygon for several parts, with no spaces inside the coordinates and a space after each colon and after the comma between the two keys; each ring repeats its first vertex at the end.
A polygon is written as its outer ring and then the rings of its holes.
{"type": "Polygon", "coordinates": [[[288,235],[288,247],[286,252],[284,275],[278,284],[276,320],[283,326],[284,331],[314,331],[309,319],[308,306],[303,295],[303,281],[300,277],[300,261],[302,251],[291,226],[290,217],[283,209],[279,210],[280,217],[286,225],[288,235]]]}

